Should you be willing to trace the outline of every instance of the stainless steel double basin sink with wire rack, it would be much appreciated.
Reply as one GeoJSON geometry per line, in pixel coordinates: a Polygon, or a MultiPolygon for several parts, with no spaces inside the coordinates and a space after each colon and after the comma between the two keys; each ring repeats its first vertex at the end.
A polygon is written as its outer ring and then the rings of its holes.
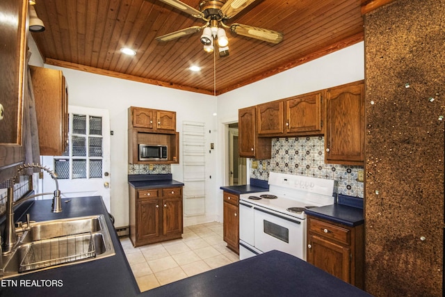
{"type": "Polygon", "coordinates": [[[3,255],[3,278],[115,255],[104,215],[31,223],[3,255]]]}

